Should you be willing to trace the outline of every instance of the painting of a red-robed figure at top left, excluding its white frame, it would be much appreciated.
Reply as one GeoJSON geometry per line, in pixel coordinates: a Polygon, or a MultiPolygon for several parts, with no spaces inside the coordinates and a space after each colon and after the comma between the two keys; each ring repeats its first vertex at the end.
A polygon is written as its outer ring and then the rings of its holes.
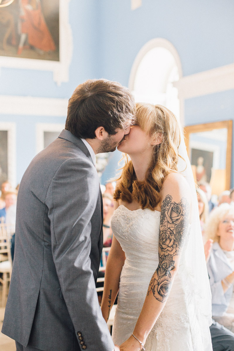
{"type": "Polygon", "coordinates": [[[0,56],[59,61],[59,0],[1,7],[0,56]]]}

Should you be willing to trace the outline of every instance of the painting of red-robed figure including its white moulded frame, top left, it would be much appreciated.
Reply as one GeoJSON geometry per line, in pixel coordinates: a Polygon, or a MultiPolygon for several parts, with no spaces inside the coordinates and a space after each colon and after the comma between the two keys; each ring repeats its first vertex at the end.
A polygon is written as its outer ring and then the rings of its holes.
{"type": "Polygon", "coordinates": [[[72,57],[68,4],[14,0],[0,7],[0,66],[49,70],[58,84],[67,81],[72,57]]]}

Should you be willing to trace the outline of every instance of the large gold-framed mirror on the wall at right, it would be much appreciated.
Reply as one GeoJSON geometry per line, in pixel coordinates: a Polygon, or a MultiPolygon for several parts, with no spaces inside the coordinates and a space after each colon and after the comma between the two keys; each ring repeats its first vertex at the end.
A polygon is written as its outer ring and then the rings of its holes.
{"type": "Polygon", "coordinates": [[[184,132],[195,181],[209,183],[217,195],[229,190],[232,120],[187,126],[184,132]]]}

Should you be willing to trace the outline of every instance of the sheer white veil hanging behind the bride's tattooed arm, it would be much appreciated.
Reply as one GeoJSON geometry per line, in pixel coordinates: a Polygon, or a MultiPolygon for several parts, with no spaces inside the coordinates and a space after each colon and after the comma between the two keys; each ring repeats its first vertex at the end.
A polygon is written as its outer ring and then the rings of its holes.
{"type": "MultiPolygon", "coordinates": [[[[197,330],[195,335],[197,338],[199,338],[199,335],[201,336],[201,341],[205,346],[211,345],[209,332],[209,325],[212,324],[211,291],[202,241],[195,182],[183,135],[178,151],[179,155],[185,160],[179,157],[178,171],[186,178],[192,195],[192,223],[185,245],[185,265],[182,267],[181,280],[188,303],[190,327],[192,326],[195,331],[197,330]]],[[[194,335],[194,333],[192,334],[194,335]]]]}

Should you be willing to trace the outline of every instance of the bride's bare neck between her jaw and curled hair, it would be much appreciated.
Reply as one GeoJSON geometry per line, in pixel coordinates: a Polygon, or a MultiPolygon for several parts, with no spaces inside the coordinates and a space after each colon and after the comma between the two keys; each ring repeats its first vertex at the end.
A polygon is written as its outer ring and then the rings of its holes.
{"type": "Polygon", "coordinates": [[[141,154],[134,154],[129,155],[133,168],[136,174],[137,180],[143,181],[146,178],[146,172],[149,168],[149,165],[152,162],[152,151],[151,152],[144,152],[141,154]]]}

